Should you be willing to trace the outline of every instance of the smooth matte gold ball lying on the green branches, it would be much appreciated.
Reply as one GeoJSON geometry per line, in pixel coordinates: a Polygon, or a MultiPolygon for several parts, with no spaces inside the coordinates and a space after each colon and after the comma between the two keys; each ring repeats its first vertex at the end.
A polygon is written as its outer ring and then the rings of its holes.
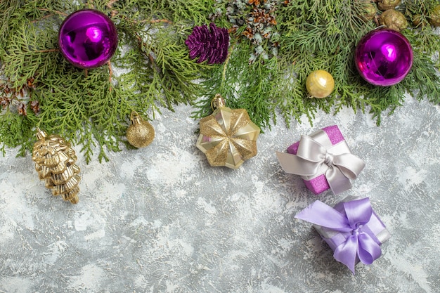
{"type": "Polygon", "coordinates": [[[335,89],[335,79],[325,70],[315,70],[306,79],[306,89],[315,98],[328,97],[335,89]]]}

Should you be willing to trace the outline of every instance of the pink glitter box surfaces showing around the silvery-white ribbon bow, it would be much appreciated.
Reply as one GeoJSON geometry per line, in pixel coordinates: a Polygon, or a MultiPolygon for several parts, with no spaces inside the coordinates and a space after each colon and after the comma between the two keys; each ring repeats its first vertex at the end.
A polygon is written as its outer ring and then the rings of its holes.
{"type": "MultiPolygon", "coordinates": [[[[314,139],[321,139],[323,136],[319,135],[322,133],[322,131],[327,134],[327,140],[330,141],[332,145],[337,145],[337,143],[340,143],[341,141],[344,141],[344,136],[342,136],[341,131],[339,131],[339,127],[337,125],[328,126],[323,129],[320,129],[313,134],[309,135],[311,138],[314,139]]],[[[328,142],[318,141],[321,144],[325,144],[328,142]]],[[[287,152],[292,155],[297,155],[299,146],[299,141],[296,143],[290,145],[289,148],[287,148],[287,152]]],[[[328,190],[330,188],[330,185],[328,184],[327,178],[325,178],[325,174],[317,174],[313,176],[301,176],[301,178],[304,181],[304,184],[306,185],[306,188],[311,190],[315,195],[318,195],[319,193],[323,193],[325,190],[328,190]]]]}

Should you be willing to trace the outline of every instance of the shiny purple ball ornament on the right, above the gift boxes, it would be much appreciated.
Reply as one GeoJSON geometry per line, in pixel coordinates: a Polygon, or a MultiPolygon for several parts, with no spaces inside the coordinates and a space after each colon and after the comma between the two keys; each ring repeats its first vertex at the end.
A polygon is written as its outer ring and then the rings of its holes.
{"type": "Polygon", "coordinates": [[[413,48],[400,32],[382,28],[369,32],[359,41],[354,59],[365,81],[376,86],[392,86],[410,71],[413,48]]]}

